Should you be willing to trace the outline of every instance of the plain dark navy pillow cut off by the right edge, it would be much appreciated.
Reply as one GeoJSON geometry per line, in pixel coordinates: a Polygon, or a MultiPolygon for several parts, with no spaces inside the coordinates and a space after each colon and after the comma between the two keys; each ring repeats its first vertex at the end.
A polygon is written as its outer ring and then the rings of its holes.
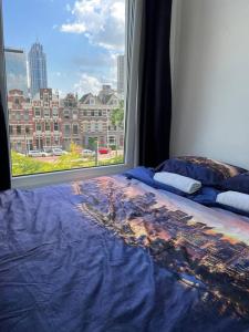
{"type": "Polygon", "coordinates": [[[249,172],[224,180],[221,189],[249,194],[249,172]]]}

